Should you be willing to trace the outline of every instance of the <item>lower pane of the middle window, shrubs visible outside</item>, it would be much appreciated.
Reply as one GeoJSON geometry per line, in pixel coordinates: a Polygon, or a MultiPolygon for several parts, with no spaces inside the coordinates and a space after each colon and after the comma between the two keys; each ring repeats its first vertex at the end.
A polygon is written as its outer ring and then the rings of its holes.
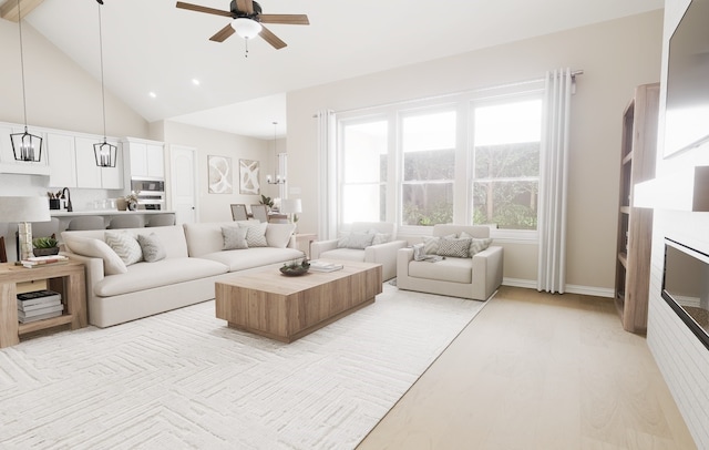
{"type": "Polygon", "coordinates": [[[434,225],[453,222],[453,183],[404,184],[402,224],[434,225]]]}

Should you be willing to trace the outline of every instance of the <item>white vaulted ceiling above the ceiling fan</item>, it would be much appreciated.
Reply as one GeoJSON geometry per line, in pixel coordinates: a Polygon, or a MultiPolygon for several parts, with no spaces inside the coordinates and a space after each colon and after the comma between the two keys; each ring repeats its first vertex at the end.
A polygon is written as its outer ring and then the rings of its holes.
{"type": "MultiPolygon", "coordinates": [[[[209,37],[226,17],[174,0],[21,0],[25,22],[100,79],[101,8],[106,89],[147,121],[176,120],[271,139],[286,131],[285,93],[662,8],[664,0],[259,0],[288,45],[209,37]],[[198,80],[199,84],[194,84],[198,80]],[[150,93],[153,92],[155,98],[150,93]]],[[[192,3],[228,10],[228,0],[192,3]]],[[[17,0],[0,0],[17,20],[17,0]]]]}

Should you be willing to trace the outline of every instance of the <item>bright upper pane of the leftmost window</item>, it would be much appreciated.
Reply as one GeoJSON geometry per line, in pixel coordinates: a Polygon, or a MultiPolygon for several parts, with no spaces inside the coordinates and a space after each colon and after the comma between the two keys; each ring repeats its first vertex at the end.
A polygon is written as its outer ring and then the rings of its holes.
{"type": "Polygon", "coordinates": [[[346,125],[342,133],[345,182],[386,182],[387,122],[346,125]]]}

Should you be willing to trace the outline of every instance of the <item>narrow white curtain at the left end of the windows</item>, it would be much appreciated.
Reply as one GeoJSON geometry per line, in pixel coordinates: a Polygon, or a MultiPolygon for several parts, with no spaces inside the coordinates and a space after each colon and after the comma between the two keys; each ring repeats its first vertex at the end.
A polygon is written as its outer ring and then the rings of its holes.
{"type": "Polygon", "coordinates": [[[335,111],[322,110],[318,121],[318,237],[335,237],[337,218],[335,111]]]}

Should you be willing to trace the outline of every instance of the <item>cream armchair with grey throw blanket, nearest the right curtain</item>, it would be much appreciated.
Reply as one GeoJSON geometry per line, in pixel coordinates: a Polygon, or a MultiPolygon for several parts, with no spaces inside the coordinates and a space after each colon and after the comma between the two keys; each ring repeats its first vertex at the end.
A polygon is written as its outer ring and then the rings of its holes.
{"type": "Polygon", "coordinates": [[[486,226],[434,225],[397,255],[400,289],[486,300],[502,284],[503,248],[486,226]]]}

